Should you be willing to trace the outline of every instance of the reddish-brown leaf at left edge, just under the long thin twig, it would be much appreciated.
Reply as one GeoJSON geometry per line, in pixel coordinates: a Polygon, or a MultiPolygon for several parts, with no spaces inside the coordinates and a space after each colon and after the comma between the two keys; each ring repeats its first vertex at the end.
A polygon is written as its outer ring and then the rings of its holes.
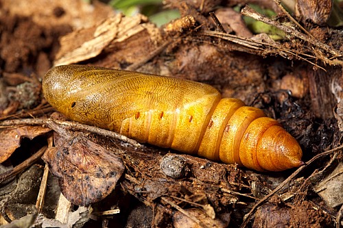
{"type": "Polygon", "coordinates": [[[12,155],[12,153],[21,145],[22,138],[32,140],[36,136],[41,136],[51,129],[40,126],[23,126],[12,129],[4,129],[0,132],[0,163],[12,155]]]}

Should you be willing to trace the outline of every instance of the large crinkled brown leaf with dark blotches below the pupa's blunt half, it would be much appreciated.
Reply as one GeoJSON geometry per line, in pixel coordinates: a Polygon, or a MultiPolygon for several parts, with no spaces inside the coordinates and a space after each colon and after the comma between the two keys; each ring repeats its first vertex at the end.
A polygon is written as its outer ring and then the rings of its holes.
{"type": "Polygon", "coordinates": [[[104,199],[121,177],[123,162],[82,134],[66,132],[63,136],[55,133],[56,147],[42,157],[58,177],[62,194],[71,203],[83,206],[104,199]]]}

